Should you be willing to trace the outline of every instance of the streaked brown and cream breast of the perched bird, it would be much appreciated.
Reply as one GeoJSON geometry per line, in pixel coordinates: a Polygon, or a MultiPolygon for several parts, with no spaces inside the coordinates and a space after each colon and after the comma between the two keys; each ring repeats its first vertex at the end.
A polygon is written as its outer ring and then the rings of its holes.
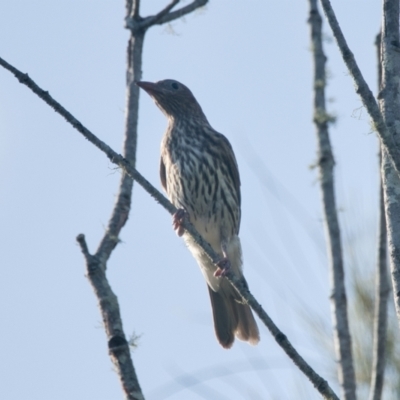
{"type": "Polygon", "coordinates": [[[203,237],[214,239],[221,230],[223,236],[236,234],[239,204],[233,182],[216,153],[201,143],[172,142],[163,160],[171,202],[189,213],[203,237]]]}

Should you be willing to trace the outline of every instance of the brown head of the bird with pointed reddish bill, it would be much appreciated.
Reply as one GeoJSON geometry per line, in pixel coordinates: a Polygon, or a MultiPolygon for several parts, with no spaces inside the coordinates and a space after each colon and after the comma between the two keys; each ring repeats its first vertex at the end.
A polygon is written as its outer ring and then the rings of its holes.
{"type": "Polygon", "coordinates": [[[155,101],[161,111],[172,119],[204,118],[201,109],[192,92],[182,83],[173,79],[158,82],[136,82],[155,101]]]}

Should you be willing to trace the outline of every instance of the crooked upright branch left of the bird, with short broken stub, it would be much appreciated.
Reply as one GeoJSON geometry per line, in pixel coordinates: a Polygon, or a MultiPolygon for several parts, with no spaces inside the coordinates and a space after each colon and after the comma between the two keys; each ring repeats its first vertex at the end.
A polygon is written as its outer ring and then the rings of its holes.
{"type": "MultiPolygon", "coordinates": [[[[139,0],[128,0],[127,12],[131,8],[138,12],[139,0]]],[[[136,164],[137,125],[139,112],[139,89],[134,84],[142,76],[142,54],[144,33],[131,34],[127,49],[126,74],[126,112],[123,154],[130,165],[136,164]]],[[[87,277],[97,297],[108,339],[111,361],[120,378],[125,398],[144,399],[136,372],[132,363],[129,345],[125,338],[118,299],[113,293],[106,277],[107,260],[119,242],[119,235],[126,224],[132,201],[133,179],[123,173],[120,179],[118,195],[105,233],[96,253],[92,256],[87,249],[85,238],[81,234],[77,240],[86,259],[87,277]]]]}

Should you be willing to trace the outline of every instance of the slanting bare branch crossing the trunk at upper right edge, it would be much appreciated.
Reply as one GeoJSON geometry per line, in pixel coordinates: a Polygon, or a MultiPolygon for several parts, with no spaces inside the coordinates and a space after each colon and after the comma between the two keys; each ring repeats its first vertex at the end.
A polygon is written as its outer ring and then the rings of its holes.
{"type": "Polygon", "coordinates": [[[385,147],[388,156],[397,171],[397,174],[400,175],[400,151],[395,142],[395,128],[392,125],[385,123],[375,97],[368,87],[368,84],[365,81],[360,69],[358,68],[353,53],[347,45],[346,39],[344,38],[343,32],[340,29],[330,1],[321,0],[321,4],[332,29],[333,35],[335,36],[336,42],[339,46],[340,52],[342,53],[343,60],[354,79],[356,92],[360,95],[361,100],[374,123],[375,129],[378,132],[383,146],[385,147]]]}

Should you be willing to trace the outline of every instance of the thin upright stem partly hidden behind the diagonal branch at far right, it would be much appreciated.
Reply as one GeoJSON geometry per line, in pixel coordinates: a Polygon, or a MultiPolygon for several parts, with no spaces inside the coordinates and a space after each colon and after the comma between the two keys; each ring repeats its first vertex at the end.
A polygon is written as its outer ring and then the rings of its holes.
{"type": "MultiPolygon", "coordinates": [[[[382,85],[381,64],[381,34],[377,35],[375,45],[378,60],[378,87],[382,85]]],[[[382,161],[382,149],[379,152],[379,161],[382,161]]],[[[379,185],[379,233],[378,257],[376,265],[375,283],[375,311],[374,311],[374,336],[373,336],[373,362],[371,376],[370,400],[381,400],[386,365],[386,340],[387,340],[387,299],[389,296],[389,280],[387,271],[387,230],[385,218],[385,205],[383,200],[382,178],[379,185]]]]}

